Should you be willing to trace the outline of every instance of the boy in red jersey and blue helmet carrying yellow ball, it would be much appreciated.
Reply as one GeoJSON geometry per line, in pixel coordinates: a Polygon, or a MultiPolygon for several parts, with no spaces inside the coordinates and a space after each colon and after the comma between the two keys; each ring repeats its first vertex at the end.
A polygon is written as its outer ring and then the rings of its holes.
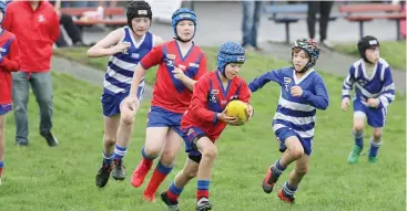
{"type": "MultiPolygon", "coordinates": [[[[194,87],[191,105],[182,117],[181,129],[189,154],[184,169],[176,176],[161,199],[169,210],[179,210],[177,199],[186,183],[197,177],[196,210],[211,210],[208,200],[211,172],[217,154],[215,140],[226,125],[236,125],[235,117],[224,113],[228,102],[248,104],[247,84],[237,74],[245,62],[245,51],[234,42],[224,43],[217,53],[217,71],[202,77],[194,87]]],[[[253,108],[250,106],[250,117],[253,108]]]]}

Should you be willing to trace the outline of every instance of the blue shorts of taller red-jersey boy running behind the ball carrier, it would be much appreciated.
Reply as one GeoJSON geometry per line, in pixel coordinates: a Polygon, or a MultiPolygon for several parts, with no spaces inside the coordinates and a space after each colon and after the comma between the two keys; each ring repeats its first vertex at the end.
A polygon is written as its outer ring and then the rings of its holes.
{"type": "Polygon", "coordinates": [[[170,127],[182,137],[183,133],[180,129],[182,115],[162,107],[151,106],[147,115],[147,127],[170,127]]]}

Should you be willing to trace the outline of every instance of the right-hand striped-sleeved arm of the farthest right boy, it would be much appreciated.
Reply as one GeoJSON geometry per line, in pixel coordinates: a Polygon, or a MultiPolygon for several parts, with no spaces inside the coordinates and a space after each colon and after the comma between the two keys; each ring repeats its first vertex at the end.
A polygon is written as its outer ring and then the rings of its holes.
{"type": "Polygon", "coordinates": [[[395,101],[395,83],[393,82],[391,71],[388,66],[384,73],[384,86],[380,95],[378,96],[378,107],[387,107],[395,101]]]}

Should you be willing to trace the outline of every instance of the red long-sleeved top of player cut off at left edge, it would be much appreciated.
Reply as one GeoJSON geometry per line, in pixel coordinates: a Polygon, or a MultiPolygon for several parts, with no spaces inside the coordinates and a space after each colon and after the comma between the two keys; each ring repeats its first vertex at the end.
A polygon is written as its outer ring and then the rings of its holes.
{"type": "Polygon", "coordinates": [[[11,72],[20,68],[17,39],[6,30],[0,32],[0,105],[4,105],[11,103],[11,72]]]}

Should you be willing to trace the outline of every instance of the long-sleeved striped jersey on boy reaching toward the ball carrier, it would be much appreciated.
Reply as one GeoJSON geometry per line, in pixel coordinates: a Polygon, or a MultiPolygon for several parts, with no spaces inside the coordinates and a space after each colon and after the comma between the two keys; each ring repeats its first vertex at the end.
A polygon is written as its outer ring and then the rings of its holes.
{"type": "Polygon", "coordinates": [[[316,108],[326,109],[329,98],[323,78],[314,70],[309,70],[302,78],[296,78],[293,67],[269,71],[250,83],[248,88],[256,92],[269,81],[281,86],[277,110],[274,115],[273,129],[282,127],[294,129],[301,137],[314,137],[316,108]],[[292,86],[301,86],[303,94],[294,97],[292,86]]]}

